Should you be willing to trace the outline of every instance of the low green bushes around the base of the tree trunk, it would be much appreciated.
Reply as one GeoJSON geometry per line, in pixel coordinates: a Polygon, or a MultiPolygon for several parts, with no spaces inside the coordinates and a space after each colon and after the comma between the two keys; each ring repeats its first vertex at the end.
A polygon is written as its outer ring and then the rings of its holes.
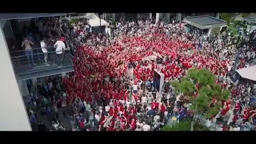
{"type": "MultiPolygon", "coordinates": [[[[191,120],[186,119],[183,122],[179,122],[174,126],[164,126],[162,127],[162,131],[190,131],[190,126],[191,126],[191,120]]],[[[194,131],[209,131],[209,129],[206,126],[203,126],[199,124],[198,122],[195,123],[194,125],[194,131]]]]}

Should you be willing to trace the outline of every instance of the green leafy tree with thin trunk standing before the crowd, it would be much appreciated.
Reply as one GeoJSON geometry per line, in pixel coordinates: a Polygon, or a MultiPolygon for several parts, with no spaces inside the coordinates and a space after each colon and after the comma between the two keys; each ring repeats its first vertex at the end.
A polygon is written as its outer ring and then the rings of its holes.
{"type": "Polygon", "coordinates": [[[191,131],[194,130],[194,122],[199,115],[210,118],[218,114],[221,101],[230,98],[230,90],[222,89],[216,84],[214,74],[207,69],[190,69],[186,77],[179,82],[172,82],[171,85],[192,104],[190,109],[194,111],[194,117],[191,131]]]}

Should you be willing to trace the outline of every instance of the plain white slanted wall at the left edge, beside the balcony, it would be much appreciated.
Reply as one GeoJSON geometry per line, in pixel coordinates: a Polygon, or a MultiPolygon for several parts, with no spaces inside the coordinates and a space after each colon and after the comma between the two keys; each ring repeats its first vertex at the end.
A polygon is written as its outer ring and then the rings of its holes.
{"type": "Polygon", "coordinates": [[[0,130],[30,131],[30,122],[18,89],[2,29],[0,29],[0,68],[0,130]]]}

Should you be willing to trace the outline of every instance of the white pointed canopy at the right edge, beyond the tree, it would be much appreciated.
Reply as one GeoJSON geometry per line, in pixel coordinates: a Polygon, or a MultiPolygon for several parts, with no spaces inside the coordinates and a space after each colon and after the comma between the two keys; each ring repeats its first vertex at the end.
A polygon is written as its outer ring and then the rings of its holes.
{"type": "Polygon", "coordinates": [[[256,81],[256,66],[250,66],[236,71],[238,72],[238,74],[240,74],[242,78],[256,81]]]}

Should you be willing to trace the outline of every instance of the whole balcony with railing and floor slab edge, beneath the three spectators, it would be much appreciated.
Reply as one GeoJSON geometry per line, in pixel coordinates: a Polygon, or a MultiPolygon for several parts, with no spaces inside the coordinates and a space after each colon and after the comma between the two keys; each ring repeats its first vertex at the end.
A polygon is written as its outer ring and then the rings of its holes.
{"type": "Polygon", "coordinates": [[[12,52],[10,55],[17,79],[25,80],[74,71],[69,50],[63,51],[60,58],[58,58],[54,47],[48,47],[47,50],[47,63],[41,48],[12,52]]]}

